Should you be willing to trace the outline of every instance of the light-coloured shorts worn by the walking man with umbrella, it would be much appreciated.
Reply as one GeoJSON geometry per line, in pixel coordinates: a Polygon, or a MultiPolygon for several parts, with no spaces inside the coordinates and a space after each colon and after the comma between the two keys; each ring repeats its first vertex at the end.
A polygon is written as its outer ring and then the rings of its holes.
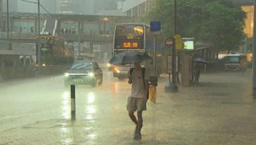
{"type": "Polygon", "coordinates": [[[147,110],[147,105],[143,98],[128,97],[126,109],[127,111],[143,111],[147,110]]]}

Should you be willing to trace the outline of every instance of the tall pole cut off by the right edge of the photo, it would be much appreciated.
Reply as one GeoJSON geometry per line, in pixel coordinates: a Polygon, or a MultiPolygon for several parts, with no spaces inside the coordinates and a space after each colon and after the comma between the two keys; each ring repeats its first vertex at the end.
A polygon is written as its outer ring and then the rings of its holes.
{"type": "Polygon", "coordinates": [[[253,97],[256,99],[256,0],[254,0],[254,18],[253,18],[253,67],[252,67],[252,83],[253,97]]]}

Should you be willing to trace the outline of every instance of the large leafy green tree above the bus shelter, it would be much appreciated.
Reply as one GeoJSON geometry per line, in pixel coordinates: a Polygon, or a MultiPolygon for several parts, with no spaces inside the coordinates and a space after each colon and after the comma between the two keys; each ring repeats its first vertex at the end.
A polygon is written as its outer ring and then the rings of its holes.
{"type": "MultiPolygon", "coordinates": [[[[155,0],[146,20],[161,21],[164,36],[173,36],[173,1],[155,0]]],[[[243,44],[246,13],[226,0],[177,0],[177,34],[211,43],[216,52],[243,44]]]]}

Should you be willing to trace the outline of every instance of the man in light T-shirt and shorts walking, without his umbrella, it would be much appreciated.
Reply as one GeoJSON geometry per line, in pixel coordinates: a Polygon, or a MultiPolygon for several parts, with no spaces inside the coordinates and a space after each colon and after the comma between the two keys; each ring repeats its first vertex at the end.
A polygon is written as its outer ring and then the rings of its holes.
{"type": "Polygon", "coordinates": [[[132,90],[127,100],[127,111],[136,125],[134,139],[141,139],[142,111],[147,110],[146,103],[148,99],[149,72],[141,67],[140,64],[140,62],[134,62],[135,67],[128,72],[128,83],[132,84],[132,90]],[[134,116],[134,111],[137,111],[138,120],[134,116]]]}

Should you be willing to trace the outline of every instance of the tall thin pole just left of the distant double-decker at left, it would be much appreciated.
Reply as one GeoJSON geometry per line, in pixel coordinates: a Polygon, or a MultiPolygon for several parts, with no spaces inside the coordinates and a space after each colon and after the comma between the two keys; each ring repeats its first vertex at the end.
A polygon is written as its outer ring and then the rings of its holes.
{"type": "Polygon", "coordinates": [[[40,0],[37,0],[37,6],[38,6],[38,22],[37,22],[37,33],[38,33],[38,36],[37,36],[37,65],[38,65],[38,74],[40,74],[40,71],[41,71],[41,36],[40,36],[40,32],[41,32],[41,29],[40,29],[40,0]]]}

